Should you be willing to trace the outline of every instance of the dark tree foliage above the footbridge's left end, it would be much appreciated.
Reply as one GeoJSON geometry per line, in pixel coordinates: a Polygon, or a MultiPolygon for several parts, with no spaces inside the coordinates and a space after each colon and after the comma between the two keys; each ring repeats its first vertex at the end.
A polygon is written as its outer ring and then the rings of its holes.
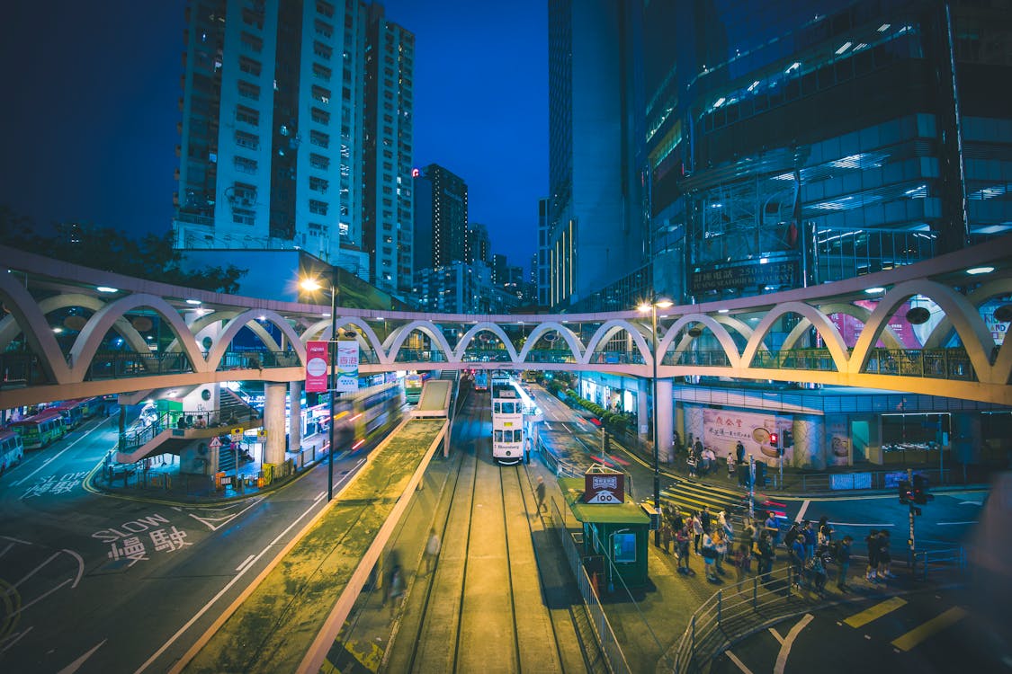
{"type": "Polygon", "coordinates": [[[38,233],[30,218],[0,207],[0,242],[11,248],[92,269],[173,285],[234,293],[248,270],[234,265],[187,272],[182,255],[172,248],[172,233],[148,233],[140,239],[111,227],[68,222],[51,235],[38,233]]]}

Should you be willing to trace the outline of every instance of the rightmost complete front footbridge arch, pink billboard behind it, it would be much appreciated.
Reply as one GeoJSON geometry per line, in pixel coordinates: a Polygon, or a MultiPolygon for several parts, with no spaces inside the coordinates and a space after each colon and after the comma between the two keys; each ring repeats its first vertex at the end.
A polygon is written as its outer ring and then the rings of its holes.
{"type": "Polygon", "coordinates": [[[963,294],[948,286],[927,279],[906,281],[893,287],[882,296],[878,306],[871,312],[871,317],[864,326],[864,331],[854,346],[850,359],[850,372],[857,374],[867,367],[871,349],[878,341],[878,333],[896,307],[903,304],[914,295],[924,295],[934,300],[942,308],[945,315],[952,321],[959,340],[962,342],[969,362],[977,372],[977,378],[982,383],[994,383],[991,367],[991,351],[995,348],[995,339],[981,318],[980,312],[963,294]]]}

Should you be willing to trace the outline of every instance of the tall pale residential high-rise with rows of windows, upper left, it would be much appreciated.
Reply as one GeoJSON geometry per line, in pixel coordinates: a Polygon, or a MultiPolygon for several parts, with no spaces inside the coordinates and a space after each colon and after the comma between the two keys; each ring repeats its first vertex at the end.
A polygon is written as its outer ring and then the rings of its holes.
{"type": "Polygon", "coordinates": [[[414,36],[353,0],[186,20],[175,248],[298,248],[410,290],[414,36]]]}

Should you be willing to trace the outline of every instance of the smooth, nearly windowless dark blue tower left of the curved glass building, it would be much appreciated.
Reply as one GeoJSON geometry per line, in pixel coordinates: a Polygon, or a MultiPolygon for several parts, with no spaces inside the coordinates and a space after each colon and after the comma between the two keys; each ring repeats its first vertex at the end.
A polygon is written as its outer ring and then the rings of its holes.
{"type": "Polygon", "coordinates": [[[547,245],[557,307],[576,305],[645,261],[638,126],[623,108],[638,81],[628,66],[635,41],[623,29],[631,4],[549,2],[547,245]]]}

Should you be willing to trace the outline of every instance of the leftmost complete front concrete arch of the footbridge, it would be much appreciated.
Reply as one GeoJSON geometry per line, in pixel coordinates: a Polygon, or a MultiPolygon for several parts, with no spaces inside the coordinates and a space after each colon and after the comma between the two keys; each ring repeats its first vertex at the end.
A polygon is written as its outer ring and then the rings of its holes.
{"type": "Polygon", "coordinates": [[[183,345],[186,358],[189,360],[193,372],[207,371],[207,364],[203,360],[203,354],[196,348],[196,342],[189,331],[189,326],[183,321],[182,316],[179,315],[179,311],[162,297],[147,293],[137,293],[109,302],[96,311],[88,319],[85,326],[81,328],[81,332],[77,335],[74,346],[71,347],[71,359],[75,364],[73,372],[75,376],[79,377],[76,381],[84,380],[84,374],[91,366],[91,361],[98,351],[98,346],[105,339],[105,334],[109,331],[109,328],[118,318],[122,318],[129,311],[133,311],[140,306],[153,309],[168,323],[169,329],[176,335],[176,340],[179,340],[183,345]],[[189,336],[190,339],[184,340],[183,338],[185,336],[189,336]]]}

